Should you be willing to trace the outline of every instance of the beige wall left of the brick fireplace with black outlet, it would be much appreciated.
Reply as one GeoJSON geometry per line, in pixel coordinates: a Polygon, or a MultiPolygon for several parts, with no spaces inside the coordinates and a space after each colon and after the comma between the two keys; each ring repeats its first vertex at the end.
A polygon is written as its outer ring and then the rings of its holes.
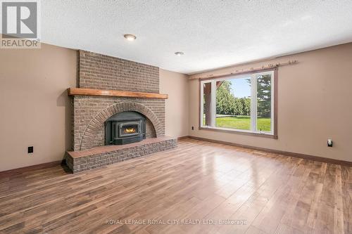
{"type": "Polygon", "coordinates": [[[76,77],[77,51],[46,44],[0,50],[0,171],[63,159],[71,148],[66,89],[76,77]]]}

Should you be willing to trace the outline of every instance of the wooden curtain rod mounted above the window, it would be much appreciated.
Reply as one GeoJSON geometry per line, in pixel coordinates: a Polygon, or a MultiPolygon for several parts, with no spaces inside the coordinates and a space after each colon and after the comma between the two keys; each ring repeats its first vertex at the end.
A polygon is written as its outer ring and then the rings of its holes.
{"type": "Polygon", "coordinates": [[[189,79],[209,79],[209,78],[215,78],[215,77],[226,77],[232,74],[243,74],[243,73],[256,72],[261,70],[268,70],[271,68],[291,65],[296,63],[298,63],[297,60],[288,60],[287,62],[284,62],[284,63],[269,63],[268,65],[263,65],[261,67],[256,67],[256,68],[250,67],[249,69],[240,69],[240,70],[237,69],[237,70],[234,70],[233,72],[225,72],[220,74],[203,74],[203,75],[193,74],[189,77],[189,79]]]}

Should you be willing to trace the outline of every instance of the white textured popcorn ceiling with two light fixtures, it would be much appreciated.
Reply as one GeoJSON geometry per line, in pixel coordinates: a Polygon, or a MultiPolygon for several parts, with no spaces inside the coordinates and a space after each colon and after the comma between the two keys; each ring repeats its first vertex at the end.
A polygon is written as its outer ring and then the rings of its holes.
{"type": "Polygon", "coordinates": [[[44,0],[42,41],[193,73],[350,42],[351,9],[351,0],[44,0]]]}

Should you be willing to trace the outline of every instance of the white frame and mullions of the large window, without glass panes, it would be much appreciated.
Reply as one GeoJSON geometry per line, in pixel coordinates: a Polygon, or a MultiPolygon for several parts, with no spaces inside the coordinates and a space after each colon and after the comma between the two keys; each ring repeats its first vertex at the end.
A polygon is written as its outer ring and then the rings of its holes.
{"type": "Polygon", "coordinates": [[[215,78],[215,79],[206,79],[206,80],[201,80],[200,85],[201,85],[201,98],[200,98],[200,125],[201,128],[204,129],[220,129],[220,130],[226,130],[226,131],[239,131],[239,132],[247,132],[247,133],[254,133],[254,134],[263,134],[263,135],[274,135],[275,133],[275,124],[274,124],[274,119],[275,119],[275,108],[274,108],[274,100],[275,100],[275,73],[274,71],[266,71],[266,72],[256,72],[256,73],[251,73],[251,74],[239,74],[235,76],[230,76],[230,77],[222,77],[222,78],[215,78]],[[271,116],[270,116],[270,131],[260,131],[257,129],[257,77],[259,75],[264,75],[264,74],[270,74],[271,80],[271,116]],[[240,79],[240,78],[251,78],[251,129],[250,130],[244,130],[244,129],[233,129],[233,128],[222,128],[215,126],[215,121],[216,121],[216,82],[221,82],[225,81],[228,79],[240,79]],[[211,83],[211,97],[210,97],[210,126],[205,126],[203,125],[203,85],[206,83],[211,83]]]}

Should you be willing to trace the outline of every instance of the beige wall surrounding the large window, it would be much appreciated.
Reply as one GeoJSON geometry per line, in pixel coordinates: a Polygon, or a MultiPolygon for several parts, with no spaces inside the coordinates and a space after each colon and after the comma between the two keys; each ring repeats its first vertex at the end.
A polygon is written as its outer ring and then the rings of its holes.
{"type": "MultiPolygon", "coordinates": [[[[191,136],[260,148],[352,161],[352,43],[292,56],[234,66],[239,69],[298,60],[279,67],[277,140],[198,130],[199,82],[189,82],[191,136]],[[327,147],[327,138],[334,142],[327,147]]],[[[208,72],[227,72],[234,67],[208,72]]],[[[203,73],[206,74],[206,73],[203,73]]]]}

